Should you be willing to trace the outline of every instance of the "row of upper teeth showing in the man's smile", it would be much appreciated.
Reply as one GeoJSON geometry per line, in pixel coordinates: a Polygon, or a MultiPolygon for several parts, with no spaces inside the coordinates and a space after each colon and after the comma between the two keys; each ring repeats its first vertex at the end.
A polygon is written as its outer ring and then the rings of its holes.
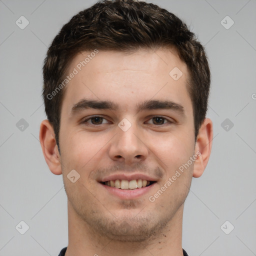
{"type": "Polygon", "coordinates": [[[125,179],[116,179],[116,180],[108,180],[105,181],[104,184],[116,188],[121,189],[135,189],[140,187],[145,187],[149,185],[150,181],[146,179],[133,179],[133,180],[125,180],[125,179]]]}

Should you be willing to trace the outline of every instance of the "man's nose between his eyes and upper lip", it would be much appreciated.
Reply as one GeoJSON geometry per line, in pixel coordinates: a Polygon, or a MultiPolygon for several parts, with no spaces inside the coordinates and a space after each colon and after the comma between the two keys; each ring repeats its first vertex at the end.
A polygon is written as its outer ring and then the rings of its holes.
{"type": "Polygon", "coordinates": [[[116,132],[108,151],[112,160],[128,165],[146,159],[149,149],[142,131],[138,129],[137,125],[132,124],[126,131],[117,126],[116,132]]]}

